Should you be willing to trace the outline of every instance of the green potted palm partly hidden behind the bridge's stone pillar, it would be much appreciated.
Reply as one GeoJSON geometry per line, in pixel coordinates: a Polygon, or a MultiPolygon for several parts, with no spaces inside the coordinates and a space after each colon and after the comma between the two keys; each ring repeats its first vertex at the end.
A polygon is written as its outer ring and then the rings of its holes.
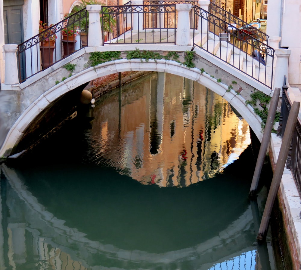
{"type": "MultiPolygon", "coordinates": [[[[81,3],[78,5],[73,5],[72,7],[72,14],[74,14],[75,12],[78,12],[80,10],[82,10],[83,8],[85,8],[87,5],[101,5],[104,6],[105,4],[101,1],[98,0],[81,0],[81,3]]],[[[99,16],[101,16],[101,13],[99,14],[99,16]]],[[[116,20],[110,16],[109,14],[104,14],[104,18],[103,20],[101,20],[104,22],[103,25],[103,29],[104,32],[110,32],[110,27],[115,26],[116,25],[116,20]]],[[[88,32],[88,25],[89,25],[89,17],[87,16],[87,19],[83,18],[80,21],[80,39],[82,42],[82,46],[86,46],[87,45],[87,32],[88,32]]],[[[106,35],[104,36],[105,41],[106,41],[106,35]]]]}

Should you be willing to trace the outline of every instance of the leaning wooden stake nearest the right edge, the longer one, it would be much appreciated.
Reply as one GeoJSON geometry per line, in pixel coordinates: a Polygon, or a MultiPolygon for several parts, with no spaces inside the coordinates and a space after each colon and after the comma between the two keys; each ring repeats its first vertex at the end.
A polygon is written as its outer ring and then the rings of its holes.
{"type": "Polygon", "coordinates": [[[268,198],[265,204],[265,209],[263,211],[263,216],[261,219],[259,232],[257,235],[258,240],[262,240],[266,237],[268,231],[268,225],[270,221],[270,216],[272,213],[272,207],[280,186],[284,166],[287,160],[288,151],[290,149],[290,143],[293,137],[293,131],[296,126],[296,121],[299,113],[300,102],[293,102],[292,108],[290,109],[290,114],[287,119],[287,125],[285,127],[283,140],[280,147],[280,152],[278,155],[275,171],[273,174],[273,179],[268,192],[268,198]]]}

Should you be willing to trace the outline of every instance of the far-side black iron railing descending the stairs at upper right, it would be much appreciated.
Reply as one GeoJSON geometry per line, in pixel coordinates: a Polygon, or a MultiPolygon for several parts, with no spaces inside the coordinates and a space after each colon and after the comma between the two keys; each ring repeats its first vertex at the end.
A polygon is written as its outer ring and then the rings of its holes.
{"type": "Polygon", "coordinates": [[[253,26],[250,26],[245,21],[243,21],[240,18],[234,16],[230,12],[222,9],[218,5],[210,2],[209,11],[210,11],[210,13],[214,14],[216,17],[219,17],[220,19],[224,20],[225,22],[228,22],[229,24],[235,24],[234,26],[237,27],[237,28],[246,28],[246,27],[248,27],[248,28],[252,29],[253,32],[256,32],[256,35],[258,36],[257,39],[260,39],[261,41],[266,41],[266,43],[268,43],[269,36],[266,33],[260,31],[259,29],[256,29],[253,26]]]}

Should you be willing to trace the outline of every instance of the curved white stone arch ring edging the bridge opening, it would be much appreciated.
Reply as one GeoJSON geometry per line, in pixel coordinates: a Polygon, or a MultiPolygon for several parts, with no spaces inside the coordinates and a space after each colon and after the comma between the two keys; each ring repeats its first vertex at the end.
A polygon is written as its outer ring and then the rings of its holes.
{"type": "MultiPolygon", "coordinates": [[[[77,65],[83,65],[81,57],[74,58],[74,63],[77,65]]],[[[67,62],[68,63],[68,62],[67,62]]],[[[57,63],[59,64],[59,63],[57,63]]],[[[62,61],[61,68],[64,66],[64,61],[62,61]]],[[[214,66],[211,67],[215,69],[214,66]]],[[[229,88],[226,83],[218,82],[214,76],[201,72],[200,68],[187,68],[181,63],[172,60],[140,60],[140,59],[119,59],[106,63],[99,64],[95,67],[90,67],[88,69],[83,69],[72,75],[70,78],[65,79],[59,84],[54,85],[44,93],[41,93],[36,100],[29,105],[17,118],[15,123],[10,128],[8,135],[2,145],[2,150],[0,151],[0,156],[9,156],[15,154],[12,151],[15,146],[20,142],[23,137],[24,131],[32,123],[32,121],[52,102],[58,98],[64,96],[66,93],[74,90],[75,88],[81,86],[82,84],[88,83],[93,79],[102,77],[104,75],[114,74],[116,72],[123,71],[154,71],[154,72],[166,72],[174,75],[179,75],[209,88],[216,94],[227,100],[234,109],[247,121],[250,125],[258,139],[261,141],[261,119],[255,114],[253,108],[250,105],[246,105],[246,99],[238,94],[233,89],[229,88]],[[5,152],[6,151],[6,152],[5,152]]],[[[53,72],[53,71],[52,71],[53,72]]],[[[43,73],[43,72],[42,72],[43,73]]],[[[57,74],[57,70],[55,74],[57,74]]],[[[47,83],[46,81],[51,78],[51,74],[48,76],[41,76],[39,85],[41,83],[47,83]]],[[[228,75],[228,81],[233,81],[234,77],[228,75]]],[[[237,78],[236,78],[237,79],[237,78]]],[[[237,87],[240,87],[239,79],[237,79],[237,87]]],[[[243,84],[246,84],[243,82],[243,84]]],[[[245,87],[245,86],[244,86],[245,87]]],[[[17,151],[19,152],[19,151],[17,151]]]]}

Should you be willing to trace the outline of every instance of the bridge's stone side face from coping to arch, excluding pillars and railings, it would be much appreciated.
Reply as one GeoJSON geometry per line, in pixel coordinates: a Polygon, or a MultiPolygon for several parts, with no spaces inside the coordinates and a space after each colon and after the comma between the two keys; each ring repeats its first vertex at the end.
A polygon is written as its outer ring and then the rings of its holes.
{"type": "Polygon", "coordinates": [[[194,48],[193,63],[195,67],[188,68],[183,63],[187,52],[193,50],[192,46],[157,44],[154,45],[156,51],[153,52],[162,55],[162,59],[149,59],[148,61],[127,59],[128,53],[136,51],[137,47],[140,51],[149,49],[147,44],[86,47],[27,79],[22,84],[6,85],[6,90],[4,90],[5,87],[2,88],[0,95],[5,98],[1,97],[0,100],[6,99],[7,102],[0,106],[0,117],[2,118],[0,122],[6,123],[6,139],[4,142],[0,142],[3,143],[0,150],[1,156],[14,153],[13,148],[23,136],[24,130],[39,113],[51,106],[55,100],[95,78],[122,71],[167,72],[198,81],[224,97],[240,112],[255,130],[256,135],[261,138],[261,120],[255,115],[250,105],[246,106],[245,101],[250,99],[249,96],[253,93],[254,88],[271,95],[272,91],[268,87],[262,86],[251,77],[245,78],[239,70],[198,48],[194,48]],[[120,51],[122,59],[102,63],[95,67],[87,67],[91,53],[96,51],[120,51]],[[179,56],[178,62],[166,60],[165,56],[169,52],[179,56]],[[70,72],[64,68],[67,63],[76,65],[69,78],[67,77],[70,72]],[[233,84],[232,81],[236,83],[233,84]],[[229,88],[231,84],[233,87],[229,88]]]}

